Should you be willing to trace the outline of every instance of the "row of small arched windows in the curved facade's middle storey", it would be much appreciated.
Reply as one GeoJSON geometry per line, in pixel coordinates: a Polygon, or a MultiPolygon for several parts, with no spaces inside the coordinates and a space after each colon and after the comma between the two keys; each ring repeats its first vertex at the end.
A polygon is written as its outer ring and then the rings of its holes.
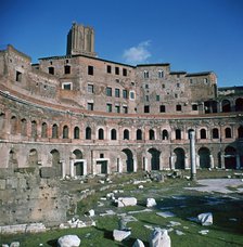
{"type": "MultiPolygon", "coordinates": [[[[30,122],[31,127],[30,127],[30,136],[31,138],[37,138],[38,132],[38,126],[37,122],[34,120],[30,122]]],[[[49,136],[49,129],[48,129],[48,125],[47,122],[42,122],[41,123],[41,138],[47,139],[47,138],[52,138],[52,139],[59,139],[60,136],[62,136],[62,139],[80,139],[80,129],[79,127],[75,127],[73,130],[73,136],[71,136],[71,131],[69,131],[69,127],[67,125],[63,126],[62,128],[62,132],[60,133],[60,127],[54,123],[51,127],[51,136],[49,136]]],[[[123,131],[123,140],[130,140],[131,139],[131,131],[129,129],[124,129],[123,131]]],[[[233,133],[232,127],[227,127],[223,128],[223,132],[221,132],[221,130],[219,128],[213,128],[209,132],[208,129],[206,128],[202,128],[200,129],[197,139],[219,139],[219,138],[226,138],[226,139],[231,139],[231,138],[238,138],[238,139],[243,139],[243,126],[240,126],[236,129],[236,133],[233,133]],[[221,136],[222,135],[222,136],[221,136]]],[[[17,118],[15,116],[13,116],[11,118],[11,133],[12,134],[16,134],[17,133],[17,118]]],[[[21,120],[21,134],[23,136],[26,136],[27,133],[27,120],[25,118],[23,118],[21,120]]],[[[141,129],[137,129],[136,130],[136,140],[144,140],[144,131],[142,131],[141,129]]],[[[110,140],[117,140],[117,130],[115,128],[110,130],[110,140]]],[[[169,131],[167,129],[162,130],[161,132],[161,138],[157,138],[156,131],[153,129],[149,130],[149,140],[168,140],[169,138],[169,131]]],[[[90,127],[87,127],[85,130],[85,139],[86,140],[91,140],[92,139],[92,129],[90,127]]],[[[97,139],[98,140],[105,140],[106,139],[106,131],[103,128],[99,128],[98,129],[98,134],[97,134],[97,139]]],[[[181,129],[176,129],[175,130],[175,139],[176,140],[181,140],[183,139],[183,131],[181,129]]]]}

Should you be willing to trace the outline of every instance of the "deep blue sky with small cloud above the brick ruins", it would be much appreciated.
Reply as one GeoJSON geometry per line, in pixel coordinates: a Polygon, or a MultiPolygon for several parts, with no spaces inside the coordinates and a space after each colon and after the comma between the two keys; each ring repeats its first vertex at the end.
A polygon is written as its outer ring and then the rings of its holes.
{"type": "Polygon", "coordinates": [[[242,0],[1,0],[0,49],[37,63],[65,55],[75,21],[95,30],[99,57],[171,70],[213,70],[219,87],[243,86],[242,0]]]}

